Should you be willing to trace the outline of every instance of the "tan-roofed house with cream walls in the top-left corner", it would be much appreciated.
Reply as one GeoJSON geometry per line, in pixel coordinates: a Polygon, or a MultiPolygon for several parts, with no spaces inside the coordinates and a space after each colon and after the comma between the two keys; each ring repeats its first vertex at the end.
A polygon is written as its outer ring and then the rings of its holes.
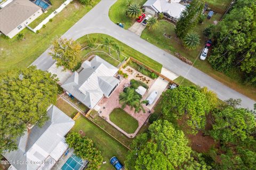
{"type": "Polygon", "coordinates": [[[13,0],[0,9],[0,31],[13,38],[42,13],[42,8],[29,0],[13,0]]]}

